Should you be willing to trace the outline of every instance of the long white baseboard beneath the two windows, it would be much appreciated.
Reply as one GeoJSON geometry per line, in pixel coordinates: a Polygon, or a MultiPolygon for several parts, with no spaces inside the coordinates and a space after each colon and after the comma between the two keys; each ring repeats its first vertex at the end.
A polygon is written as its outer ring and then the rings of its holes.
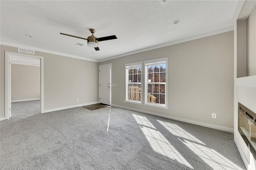
{"type": "Polygon", "coordinates": [[[149,114],[149,115],[164,117],[164,118],[168,118],[168,119],[173,119],[173,120],[176,120],[176,121],[191,123],[191,124],[194,124],[194,125],[200,125],[200,126],[203,126],[203,127],[215,128],[215,129],[218,129],[218,130],[223,130],[223,131],[232,132],[232,133],[234,132],[233,128],[222,127],[222,126],[212,125],[212,124],[203,123],[203,122],[191,121],[191,120],[188,120],[188,119],[181,119],[181,118],[178,118],[178,117],[162,115],[162,114],[158,114],[158,113],[143,111],[143,110],[139,110],[139,109],[133,109],[133,108],[130,108],[130,107],[124,107],[124,106],[120,106],[120,105],[111,105],[111,106],[119,107],[119,108],[122,108],[122,109],[128,109],[128,110],[132,110],[132,111],[137,111],[137,112],[141,112],[141,113],[146,113],[146,114],[149,114]]]}

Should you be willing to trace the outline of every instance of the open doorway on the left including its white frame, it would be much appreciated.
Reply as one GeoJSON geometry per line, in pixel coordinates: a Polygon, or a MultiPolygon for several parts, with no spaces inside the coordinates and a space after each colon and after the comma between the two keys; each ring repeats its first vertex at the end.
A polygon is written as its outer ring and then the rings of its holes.
{"type": "Polygon", "coordinates": [[[43,113],[43,57],[5,53],[5,119],[43,113]]]}

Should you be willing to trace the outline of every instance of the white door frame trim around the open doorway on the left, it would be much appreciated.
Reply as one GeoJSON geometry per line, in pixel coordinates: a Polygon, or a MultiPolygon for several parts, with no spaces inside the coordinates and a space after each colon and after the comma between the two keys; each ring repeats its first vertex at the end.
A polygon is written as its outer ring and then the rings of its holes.
{"type": "Polygon", "coordinates": [[[10,119],[10,116],[11,116],[10,104],[11,104],[11,86],[12,85],[9,82],[11,80],[10,57],[12,55],[40,59],[40,102],[41,102],[41,113],[44,113],[44,57],[5,51],[5,75],[4,75],[5,99],[4,99],[4,119],[2,120],[10,119]]]}

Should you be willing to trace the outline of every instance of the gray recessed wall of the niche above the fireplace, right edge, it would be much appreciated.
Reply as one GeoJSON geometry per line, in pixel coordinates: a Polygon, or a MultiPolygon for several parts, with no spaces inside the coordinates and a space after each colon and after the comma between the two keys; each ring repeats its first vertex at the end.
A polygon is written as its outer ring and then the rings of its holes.
{"type": "Polygon", "coordinates": [[[247,18],[247,76],[256,75],[256,6],[247,18]]]}

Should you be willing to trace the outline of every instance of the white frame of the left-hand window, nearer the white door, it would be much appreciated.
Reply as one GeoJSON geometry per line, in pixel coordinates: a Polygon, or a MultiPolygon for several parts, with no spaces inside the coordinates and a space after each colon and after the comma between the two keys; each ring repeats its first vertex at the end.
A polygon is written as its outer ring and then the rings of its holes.
{"type": "Polygon", "coordinates": [[[140,62],[136,62],[136,63],[128,63],[128,64],[125,64],[125,103],[133,103],[133,104],[138,104],[138,105],[142,105],[143,104],[143,65],[142,65],[142,61],[140,62]],[[141,73],[140,73],[140,83],[134,83],[134,84],[140,84],[140,88],[141,88],[141,91],[140,91],[140,101],[134,101],[134,100],[129,100],[129,97],[128,97],[128,87],[129,87],[129,69],[126,69],[127,66],[132,66],[132,65],[141,65],[141,73]]]}

